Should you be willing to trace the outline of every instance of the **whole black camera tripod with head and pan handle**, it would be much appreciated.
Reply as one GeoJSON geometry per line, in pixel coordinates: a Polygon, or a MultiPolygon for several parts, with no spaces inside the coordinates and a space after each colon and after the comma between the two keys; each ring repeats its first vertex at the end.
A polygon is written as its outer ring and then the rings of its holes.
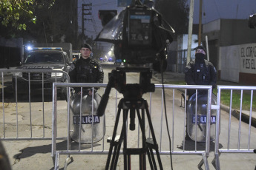
{"type": "Polygon", "coordinates": [[[112,86],[114,86],[119,92],[124,95],[119,101],[118,111],[116,115],[116,121],[114,126],[114,132],[108,142],[110,148],[108,152],[108,159],[105,165],[105,169],[116,169],[117,161],[119,158],[120,148],[123,143],[123,157],[124,157],[124,169],[131,169],[131,155],[137,154],[140,159],[140,170],[146,169],[146,154],[148,155],[148,163],[151,169],[157,169],[157,163],[154,158],[155,150],[157,154],[159,169],[163,169],[160,159],[160,153],[158,150],[157,140],[154,135],[154,129],[151,122],[151,116],[148,110],[148,103],[142,98],[142,94],[145,92],[154,92],[154,84],[150,83],[151,72],[149,69],[138,69],[135,71],[140,72],[140,84],[125,84],[125,72],[134,71],[134,69],[117,68],[118,70],[112,70],[108,86],[105,90],[105,94],[102,96],[102,101],[99,103],[99,109],[97,115],[103,115],[105,106],[107,105],[108,95],[112,86]],[[122,116],[122,130],[119,136],[116,135],[119,118],[122,116]],[[141,110],[141,112],[140,112],[141,110]],[[140,130],[142,132],[142,148],[128,148],[127,147],[127,122],[128,114],[130,114],[130,130],[135,129],[135,115],[140,123],[140,130]],[[148,126],[151,132],[152,138],[146,139],[145,137],[145,114],[148,118],[148,126]]]}

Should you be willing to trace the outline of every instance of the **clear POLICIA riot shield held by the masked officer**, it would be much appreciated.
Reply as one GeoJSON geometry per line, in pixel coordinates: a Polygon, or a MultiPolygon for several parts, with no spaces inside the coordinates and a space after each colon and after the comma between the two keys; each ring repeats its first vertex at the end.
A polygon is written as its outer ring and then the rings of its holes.
{"type": "MultiPolygon", "coordinates": [[[[211,95],[211,105],[217,104],[216,95],[211,95]]],[[[206,141],[206,116],[208,107],[208,93],[200,94],[197,93],[197,103],[196,94],[192,95],[188,99],[187,104],[187,135],[191,140],[196,139],[197,142],[206,141]],[[197,114],[196,114],[197,106],[197,114]],[[196,122],[197,115],[197,123],[196,122]]],[[[216,114],[217,111],[211,110],[211,125],[210,125],[210,140],[215,140],[215,126],[216,126],[216,114]]]]}

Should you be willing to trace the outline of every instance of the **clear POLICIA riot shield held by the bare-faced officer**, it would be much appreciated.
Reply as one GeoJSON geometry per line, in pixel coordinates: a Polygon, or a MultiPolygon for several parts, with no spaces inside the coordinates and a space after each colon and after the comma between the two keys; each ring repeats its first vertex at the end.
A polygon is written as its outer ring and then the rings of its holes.
{"type": "Polygon", "coordinates": [[[95,143],[102,140],[105,133],[105,119],[96,115],[100,100],[101,96],[98,93],[94,94],[93,99],[90,95],[82,96],[82,102],[81,95],[77,93],[70,97],[70,137],[77,143],[79,137],[81,143],[95,143]]]}

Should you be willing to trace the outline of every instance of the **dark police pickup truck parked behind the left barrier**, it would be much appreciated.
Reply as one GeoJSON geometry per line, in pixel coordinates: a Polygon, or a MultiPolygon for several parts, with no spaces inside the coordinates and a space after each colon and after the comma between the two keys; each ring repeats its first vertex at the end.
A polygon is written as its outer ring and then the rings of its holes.
{"type": "MultiPolygon", "coordinates": [[[[33,69],[35,72],[14,72],[13,92],[16,92],[17,84],[17,94],[26,94],[30,80],[31,93],[42,94],[42,81],[44,81],[44,93],[50,95],[53,93],[53,82],[68,82],[68,77],[63,72],[51,72],[51,70],[69,72],[71,64],[72,61],[69,61],[67,53],[62,48],[33,48],[27,52],[21,66],[16,69],[33,69]],[[36,72],[37,69],[47,69],[49,72],[36,72]]],[[[66,88],[60,88],[60,92],[65,95],[66,88]]]]}

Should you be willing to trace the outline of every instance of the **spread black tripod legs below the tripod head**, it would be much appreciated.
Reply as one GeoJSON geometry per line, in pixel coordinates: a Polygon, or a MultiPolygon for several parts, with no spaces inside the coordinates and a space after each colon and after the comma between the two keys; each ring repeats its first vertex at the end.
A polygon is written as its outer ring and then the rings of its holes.
{"type": "Polygon", "coordinates": [[[163,169],[163,166],[160,160],[160,153],[158,151],[157,140],[154,135],[154,129],[153,129],[151,117],[148,111],[148,103],[144,99],[131,101],[131,100],[122,98],[121,101],[119,101],[118,112],[117,112],[116,122],[114,126],[114,132],[111,139],[112,140],[110,141],[110,149],[108,152],[108,160],[107,160],[105,169],[109,168],[110,162],[111,162],[111,169],[116,169],[116,164],[119,157],[119,150],[122,143],[123,143],[123,155],[124,155],[124,169],[131,169],[131,154],[139,154],[140,169],[146,169],[145,154],[148,154],[148,160],[149,160],[151,169],[157,169],[157,164],[154,159],[153,149],[156,151],[157,160],[158,160],[160,169],[163,169]],[[121,135],[119,137],[116,137],[116,130],[119,122],[121,109],[123,110],[122,131],[121,131],[121,135]],[[141,115],[140,115],[140,109],[142,111],[141,115]],[[140,149],[127,148],[126,122],[128,120],[129,111],[130,111],[130,119],[131,119],[131,122],[130,122],[131,130],[134,130],[135,128],[135,124],[134,124],[135,111],[137,112],[137,117],[140,123],[140,129],[142,132],[142,148],[140,149]],[[148,139],[146,139],[145,137],[145,113],[148,118],[148,125],[152,135],[152,138],[148,138],[148,139]],[[111,161],[111,154],[112,154],[113,148],[114,148],[114,152],[113,152],[112,161],[111,161]]]}

